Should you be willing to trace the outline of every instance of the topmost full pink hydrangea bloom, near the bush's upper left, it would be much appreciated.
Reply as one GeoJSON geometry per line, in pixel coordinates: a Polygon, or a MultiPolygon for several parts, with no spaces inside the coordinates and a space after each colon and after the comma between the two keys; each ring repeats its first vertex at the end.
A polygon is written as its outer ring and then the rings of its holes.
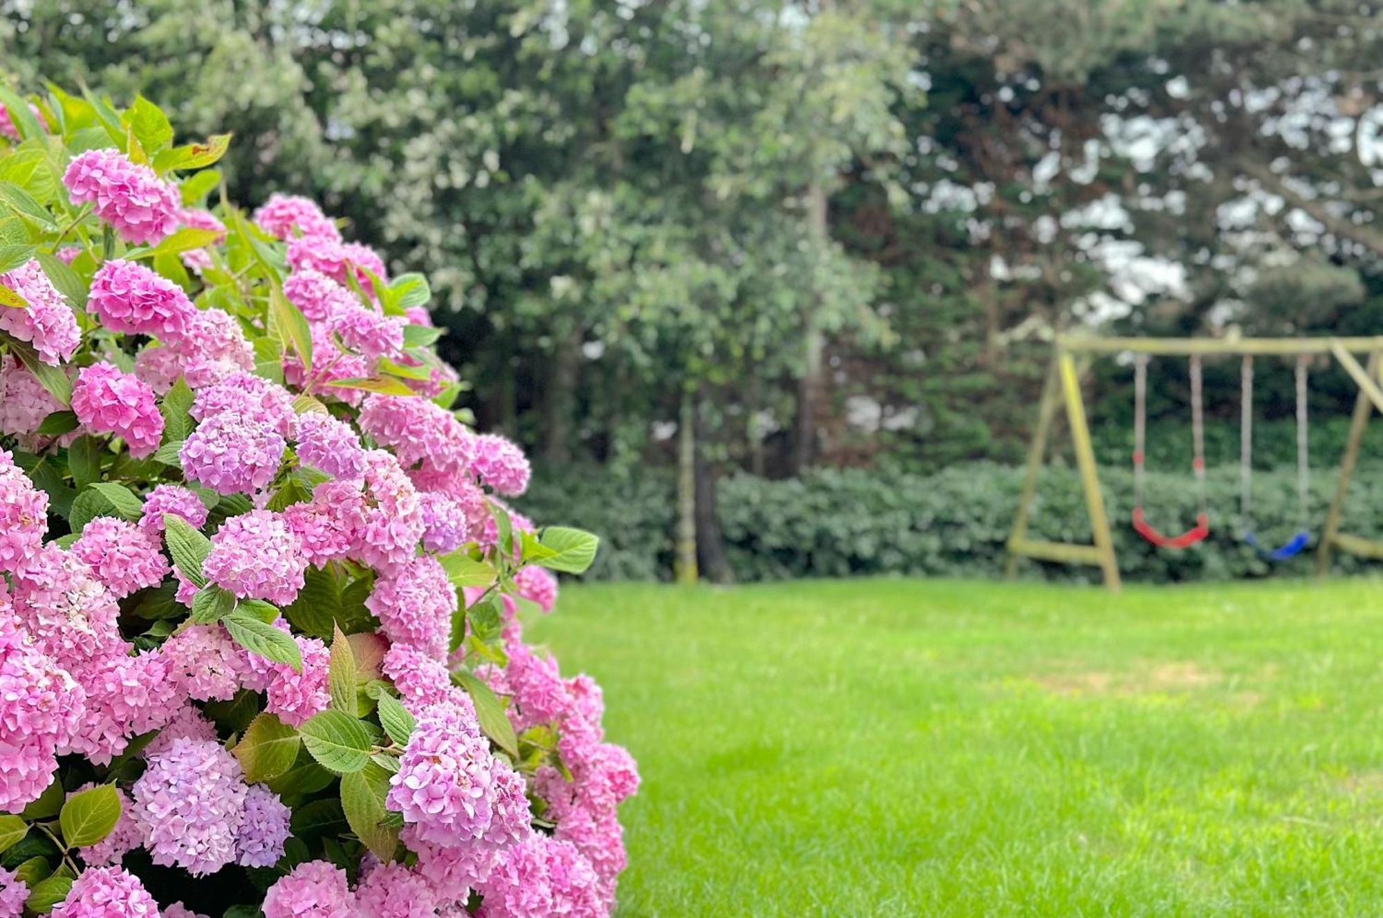
{"type": "Polygon", "coordinates": [[[177,227],[181,198],[148,166],[113,149],[89,149],[72,158],[62,184],[73,203],[94,205],[126,242],[159,242],[177,227]]]}

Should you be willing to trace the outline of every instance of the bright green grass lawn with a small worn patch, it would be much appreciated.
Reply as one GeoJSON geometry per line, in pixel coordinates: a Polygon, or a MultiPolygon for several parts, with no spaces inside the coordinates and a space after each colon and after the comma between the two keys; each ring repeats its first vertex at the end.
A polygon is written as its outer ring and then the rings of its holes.
{"type": "Polygon", "coordinates": [[[1383,583],[564,589],[622,918],[1383,914],[1383,583]]]}

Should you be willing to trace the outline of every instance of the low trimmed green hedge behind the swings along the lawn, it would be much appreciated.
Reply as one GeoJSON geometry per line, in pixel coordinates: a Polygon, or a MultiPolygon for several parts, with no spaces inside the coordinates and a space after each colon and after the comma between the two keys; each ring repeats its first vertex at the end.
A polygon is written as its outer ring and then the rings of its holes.
{"type": "MultiPolygon", "coordinates": [[[[1346,505],[1343,531],[1383,538],[1375,509],[1383,503],[1383,467],[1361,467],[1346,505]]],[[[969,463],[920,476],[860,469],[827,469],[802,478],[769,481],[736,476],[721,483],[718,512],[726,554],[736,579],[776,581],[797,577],[910,574],[996,577],[1004,567],[1004,542],[1012,525],[1022,484],[1021,470],[969,463]]],[[[644,477],[638,485],[595,481],[589,474],[563,480],[539,476],[544,488],[524,500],[526,512],[542,516],[561,506],[577,525],[603,538],[588,577],[622,579],[667,577],[672,483],[644,477]],[[581,487],[577,487],[577,483],[581,487]],[[661,494],[660,494],[661,491],[661,494]],[[570,495],[581,495],[579,500],[570,495]]],[[[1101,469],[1119,568],[1145,582],[1301,577],[1314,556],[1267,563],[1241,541],[1239,469],[1209,471],[1212,538],[1187,552],[1159,550],[1129,525],[1133,474],[1127,467],[1101,469]]],[[[1189,473],[1149,473],[1149,521],[1164,531],[1195,520],[1189,473]]],[[[1311,476],[1310,528],[1318,534],[1335,494],[1335,469],[1311,476]]],[[[1299,528],[1296,471],[1260,471],[1253,480],[1254,530],[1264,542],[1286,542],[1299,528]]],[[[1030,534],[1066,542],[1088,542],[1086,505],[1073,469],[1052,466],[1043,473],[1030,534]]],[[[1098,582],[1095,568],[1025,561],[1025,577],[1098,582]]],[[[1377,570],[1373,563],[1336,554],[1339,572],[1377,570]]]]}

